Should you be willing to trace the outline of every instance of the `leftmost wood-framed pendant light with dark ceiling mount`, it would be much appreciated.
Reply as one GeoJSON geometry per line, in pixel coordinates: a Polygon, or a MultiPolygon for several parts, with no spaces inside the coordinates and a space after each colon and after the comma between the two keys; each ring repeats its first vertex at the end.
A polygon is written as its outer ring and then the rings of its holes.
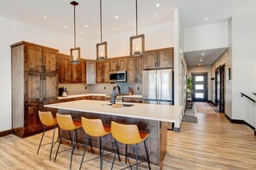
{"type": "Polygon", "coordinates": [[[74,48],[70,49],[71,53],[71,64],[80,64],[80,47],[77,47],[77,34],[76,34],[76,6],[79,4],[72,1],[71,4],[74,6],[74,48]]]}

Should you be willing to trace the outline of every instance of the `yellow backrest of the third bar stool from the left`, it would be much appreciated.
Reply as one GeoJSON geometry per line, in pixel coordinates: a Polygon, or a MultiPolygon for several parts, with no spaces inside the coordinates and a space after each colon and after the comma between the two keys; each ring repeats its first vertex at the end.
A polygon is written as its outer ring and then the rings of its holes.
{"type": "Polygon", "coordinates": [[[100,118],[89,119],[82,117],[82,127],[84,132],[91,137],[102,137],[106,134],[103,121],[100,118]]]}

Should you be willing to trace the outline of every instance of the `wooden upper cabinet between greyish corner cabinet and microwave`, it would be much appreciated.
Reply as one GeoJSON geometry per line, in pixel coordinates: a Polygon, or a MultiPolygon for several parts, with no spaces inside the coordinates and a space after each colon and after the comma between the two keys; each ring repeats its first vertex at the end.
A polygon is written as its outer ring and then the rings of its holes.
{"type": "Polygon", "coordinates": [[[109,60],[97,61],[97,83],[109,83],[109,60]]]}

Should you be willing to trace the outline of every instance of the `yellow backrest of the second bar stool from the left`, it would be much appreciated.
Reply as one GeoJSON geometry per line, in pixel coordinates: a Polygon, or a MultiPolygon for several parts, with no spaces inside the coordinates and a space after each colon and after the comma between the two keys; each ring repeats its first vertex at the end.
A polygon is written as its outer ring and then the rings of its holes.
{"type": "Polygon", "coordinates": [[[63,115],[56,113],[56,117],[59,127],[62,130],[73,131],[77,129],[76,125],[73,123],[72,116],[70,114],[63,115]]]}

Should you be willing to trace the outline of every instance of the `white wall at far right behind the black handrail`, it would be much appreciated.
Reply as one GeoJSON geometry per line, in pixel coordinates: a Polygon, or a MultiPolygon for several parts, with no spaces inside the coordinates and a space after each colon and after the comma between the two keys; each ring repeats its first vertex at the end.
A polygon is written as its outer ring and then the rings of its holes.
{"type": "Polygon", "coordinates": [[[233,32],[233,82],[232,82],[232,118],[243,119],[255,126],[254,103],[240,97],[243,92],[252,98],[256,91],[256,13],[234,16],[233,32]]]}

